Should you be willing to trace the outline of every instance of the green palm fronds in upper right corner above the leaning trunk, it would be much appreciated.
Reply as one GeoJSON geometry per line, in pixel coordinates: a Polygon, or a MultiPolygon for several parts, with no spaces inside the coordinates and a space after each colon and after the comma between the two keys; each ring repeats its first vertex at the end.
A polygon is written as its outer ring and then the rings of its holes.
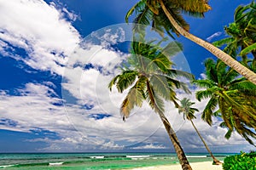
{"type": "Polygon", "coordinates": [[[247,54],[253,54],[253,67],[256,66],[256,3],[252,2],[236,8],[234,22],[224,27],[226,37],[213,45],[222,47],[224,52],[233,57],[241,55],[242,61],[247,65],[247,54]],[[240,51],[240,53],[239,53],[240,51]]]}

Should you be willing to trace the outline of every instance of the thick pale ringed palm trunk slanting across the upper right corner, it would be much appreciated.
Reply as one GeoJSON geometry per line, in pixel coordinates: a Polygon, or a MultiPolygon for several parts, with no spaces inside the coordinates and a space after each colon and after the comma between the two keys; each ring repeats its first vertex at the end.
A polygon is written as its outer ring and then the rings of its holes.
{"type": "Polygon", "coordinates": [[[188,31],[185,31],[183,27],[179,26],[176,22],[176,20],[173,19],[172,14],[168,11],[165,4],[163,3],[163,0],[159,0],[161,8],[163,8],[167,18],[172,23],[172,26],[181,34],[183,37],[188,38],[189,40],[197,43],[203,48],[206,48],[209,52],[211,52],[213,55],[218,57],[218,59],[221,59],[226,65],[229,65],[231,68],[236,70],[239,74],[241,74],[243,77],[246,77],[250,82],[253,82],[256,84],[256,74],[253,71],[250,71],[247,69],[247,67],[241,65],[236,59],[233,59],[230,57],[229,54],[225,54],[222,50],[212,45],[210,42],[206,42],[202,40],[199,37],[195,37],[193,34],[190,34],[188,31]]]}

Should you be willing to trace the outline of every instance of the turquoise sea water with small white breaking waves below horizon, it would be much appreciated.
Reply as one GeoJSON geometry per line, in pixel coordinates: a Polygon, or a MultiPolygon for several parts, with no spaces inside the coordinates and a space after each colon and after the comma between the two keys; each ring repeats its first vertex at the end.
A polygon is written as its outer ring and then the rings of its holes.
{"type": "MultiPolygon", "coordinates": [[[[230,154],[215,154],[224,160],[230,154]]],[[[207,154],[187,154],[190,162],[212,161],[207,154]]],[[[178,163],[176,154],[169,153],[40,153],[0,154],[0,169],[74,169],[103,170],[150,167],[178,163]]]]}

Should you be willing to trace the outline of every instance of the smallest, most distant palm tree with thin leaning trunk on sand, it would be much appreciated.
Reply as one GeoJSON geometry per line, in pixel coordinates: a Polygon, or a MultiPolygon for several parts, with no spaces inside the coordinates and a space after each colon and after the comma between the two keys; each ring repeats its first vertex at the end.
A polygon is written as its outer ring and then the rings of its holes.
{"type": "Polygon", "coordinates": [[[222,164],[220,161],[218,161],[218,159],[216,159],[215,156],[213,156],[212,151],[209,149],[209,147],[207,146],[207,143],[202,138],[201,133],[199,133],[198,129],[195,127],[194,122],[192,121],[192,119],[196,118],[194,115],[195,111],[198,111],[196,108],[191,107],[191,105],[194,105],[195,102],[191,102],[188,98],[184,98],[180,101],[180,103],[181,103],[181,106],[178,108],[178,113],[183,113],[183,119],[185,119],[185,117],[186,117],[186,119],[192,123],[192,126],[195,128],[196,133],[200,137],[203,144],[205,144],[210,156],[212,156],[213,164],[215,164],[215,165],[222,164]]]}

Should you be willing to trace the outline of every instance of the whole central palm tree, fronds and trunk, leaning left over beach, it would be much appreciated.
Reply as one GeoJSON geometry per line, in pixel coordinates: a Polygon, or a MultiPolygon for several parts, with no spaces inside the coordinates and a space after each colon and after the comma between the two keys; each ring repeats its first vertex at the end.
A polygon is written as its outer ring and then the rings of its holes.
{"type": "Polygon", "coordinates": [[[173,70],[172,62],[165,55],[166,50],[173,49],[172,54],[180,51],[180,48],[175,48],[175,43],[170,42],[165,48],[160,48],[160,43],[154,45],[153,42],[145,42],[142,38],[132,42],[131,56],[123,71],[109,82],[109,88],[112,90],[115,85],[119,93],[129,89],[120,108],[123,120],[130,115],[135,106],[141,107],[144,100],[148,102],[166,127],[181,166],[183,169],[190,170],[192,168],[189,166],[183,148],[164,114],[164,100],[171,100],[177,105],[174,91],[176,88],[183,88],[188,92],[185,84],[177,81],[175,77],[183,75],[191,78],[189,73],[173,70]]]}

